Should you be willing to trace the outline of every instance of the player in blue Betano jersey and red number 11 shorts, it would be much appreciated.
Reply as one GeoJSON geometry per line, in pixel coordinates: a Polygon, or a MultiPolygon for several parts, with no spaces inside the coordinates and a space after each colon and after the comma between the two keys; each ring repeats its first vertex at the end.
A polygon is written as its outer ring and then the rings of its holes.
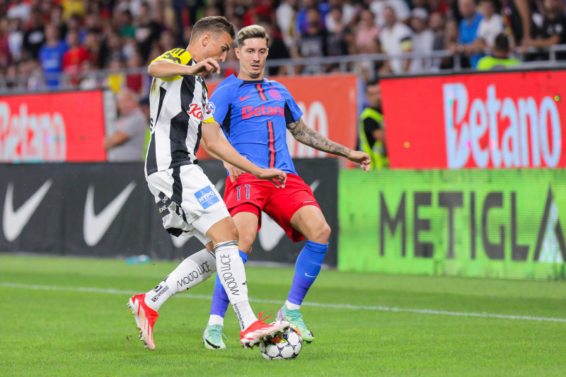
{"type": "MultiPolygon", "coordinates": [[[[312,342],[314,335],[306,327],[299,308],[320,272],[328,250],[330,226],[311,187],[296,175],[287,149],[287,129],[301,143],[360,163],[366,171],[371,161],[367,153],[330,141],[304,124],[302,112],[287,88],[264,78],[269,45],[269,35],[264,28],[258,25],[243,28],[237,39],[240,73],[219,84],[210,98],[209,108],[236,151],[257,166],[283,170],[287,173],[287,182],[283,189],[273,190],[275,187],[225,163],[229,178],[226,178],[224,200],[240,234],[239,247],[244,262],[261,226],[262,211],[294,242],[307,239],[296,260],[289,296],[276,319],[289,321],[299,328],[303,340],[312,342]]],[[[222,330],[228,303],[224,286],[217,279],[209,323],[202,335],[202,342],[209,349],[226,347],[222,330]]]]}

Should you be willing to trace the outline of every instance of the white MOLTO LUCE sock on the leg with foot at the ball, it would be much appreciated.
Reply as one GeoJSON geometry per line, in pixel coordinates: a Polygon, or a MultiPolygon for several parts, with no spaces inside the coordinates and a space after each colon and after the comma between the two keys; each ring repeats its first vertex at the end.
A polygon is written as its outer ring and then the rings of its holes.
{"type": "Polygon", "coordinates": [[[227,241],[214,245],[216,269],[220,282],[236,312],[241,330],[258,320],[248,302],[246,270],[238,252],[238,241],[227,241]]]}

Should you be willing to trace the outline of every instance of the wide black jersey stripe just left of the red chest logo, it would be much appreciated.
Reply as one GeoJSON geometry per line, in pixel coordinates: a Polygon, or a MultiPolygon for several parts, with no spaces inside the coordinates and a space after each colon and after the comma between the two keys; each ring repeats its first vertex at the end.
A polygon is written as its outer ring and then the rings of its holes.
{"type": "Polygon", "coordinates": [[[195,90],[196,76],[183,76],[180,87],[181,112],[171,119],[169,139],[171,141],[171,164],[169,168],[176,165],[187,165],[190,161],[190,152],[187,150],[187,132],[189,131],[189,117],[186,110],[192,103],[193,91],[195,90]],[[185,108],[187,106],[187,108],[185,108]]]}

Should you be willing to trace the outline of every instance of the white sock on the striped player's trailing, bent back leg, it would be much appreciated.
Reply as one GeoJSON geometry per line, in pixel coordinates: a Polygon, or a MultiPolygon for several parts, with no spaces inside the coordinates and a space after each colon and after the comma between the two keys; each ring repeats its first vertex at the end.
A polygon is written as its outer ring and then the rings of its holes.
{"type": "Polygon", "coordinates": [[[216,272],[216,259],[207,249],[185,258],[163,282],[146,293],[146,305],[158,311],[171,296],[204,282],[216,272]]]}

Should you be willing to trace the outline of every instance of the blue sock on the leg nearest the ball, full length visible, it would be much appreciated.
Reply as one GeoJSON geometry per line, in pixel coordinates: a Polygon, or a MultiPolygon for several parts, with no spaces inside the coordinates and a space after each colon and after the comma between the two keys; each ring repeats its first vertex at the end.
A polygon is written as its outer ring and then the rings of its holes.
{"type": "Polygon", "coordinates": [[[328,251],[328,243],[322,245],[313,241],[306,241],[305,247],[299,253],[295,262],[295,276],[289,291],[287,300],[295,305],[301,305],[306,292],[313,285],[320,266],[323,264],[324,256],[328,251]]]}

